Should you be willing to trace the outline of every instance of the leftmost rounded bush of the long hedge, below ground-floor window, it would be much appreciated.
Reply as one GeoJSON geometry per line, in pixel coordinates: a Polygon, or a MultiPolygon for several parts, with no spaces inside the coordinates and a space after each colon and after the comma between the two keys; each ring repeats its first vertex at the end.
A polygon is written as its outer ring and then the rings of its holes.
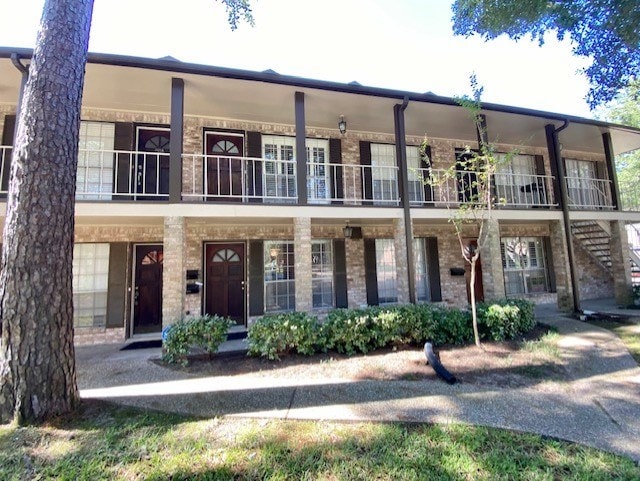
{"type": "Polygon", "coordinates": [[[311,355],[324,341],[318,319],[304,312],[266,315],[249,327],[249,355],[277,360],[289,352],[311,355]]]}

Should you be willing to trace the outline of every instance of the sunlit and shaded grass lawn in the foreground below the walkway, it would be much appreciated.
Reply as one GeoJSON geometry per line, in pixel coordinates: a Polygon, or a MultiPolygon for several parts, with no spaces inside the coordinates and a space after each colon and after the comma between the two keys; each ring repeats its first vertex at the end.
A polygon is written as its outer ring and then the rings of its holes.
{"type": "Polygon", "coordinates": [[[627,458],[466,425],[199,420],[89,402],[0,426],[0,479],[637,480],[627,458]]]}

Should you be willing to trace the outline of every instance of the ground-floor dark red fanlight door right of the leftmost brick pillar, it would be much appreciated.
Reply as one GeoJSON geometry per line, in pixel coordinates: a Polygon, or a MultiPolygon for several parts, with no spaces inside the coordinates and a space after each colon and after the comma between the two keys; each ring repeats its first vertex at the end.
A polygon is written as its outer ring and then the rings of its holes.
{"type": "Polygon", "coordinates": [[[244,244],[206,244],[205,313],[244,324],[244,244]]]}

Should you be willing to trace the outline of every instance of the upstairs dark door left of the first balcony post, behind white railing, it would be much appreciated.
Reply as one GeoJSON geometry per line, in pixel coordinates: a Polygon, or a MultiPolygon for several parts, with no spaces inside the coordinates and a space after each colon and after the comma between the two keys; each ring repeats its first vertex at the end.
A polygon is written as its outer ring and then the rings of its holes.
{"type": "Polygon", "coordinates": [[[169,194],[168,130],[138,127],[138,152],[134,176],[134,192],[144,194],[141,200],[166,199],[169,194]],[[154,194],[165,194],[157,196],[154,194]]]}

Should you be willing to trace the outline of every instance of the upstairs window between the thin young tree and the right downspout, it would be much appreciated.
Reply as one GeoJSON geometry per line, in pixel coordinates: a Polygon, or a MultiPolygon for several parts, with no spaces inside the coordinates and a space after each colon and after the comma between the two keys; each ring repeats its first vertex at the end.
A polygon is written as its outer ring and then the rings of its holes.
{"type": "Polygon", "coordinates": [[[499,162],[495,176],[496,194],[507,205],[539,205],[545,203],[544,186],[538,186],[535,158],[514,155],[509,161],[505,154],[497,154],[499,162]]]}

